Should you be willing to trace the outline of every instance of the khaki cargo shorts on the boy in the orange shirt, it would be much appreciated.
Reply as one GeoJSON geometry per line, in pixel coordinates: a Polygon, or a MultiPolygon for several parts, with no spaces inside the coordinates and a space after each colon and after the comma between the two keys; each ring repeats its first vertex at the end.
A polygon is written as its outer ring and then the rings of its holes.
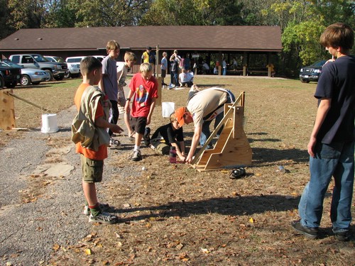
{"type": "Polygon", "coordinates": [[[82,162],[82,180],[87,183],[102,182],[104,160],[91,160],[80,154],[82,162]]]}

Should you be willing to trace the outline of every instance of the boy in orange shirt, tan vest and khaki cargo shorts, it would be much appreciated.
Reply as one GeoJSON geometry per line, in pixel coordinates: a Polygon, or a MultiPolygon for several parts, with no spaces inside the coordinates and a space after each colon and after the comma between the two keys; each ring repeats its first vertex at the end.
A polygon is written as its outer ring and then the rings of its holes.
{"type": "Polygon", "coordinates": [[[114,133],[121,133],[123,129],[108,122],[109,99],[99,87],[93,86],[101,79],[102,63],[95,57],[84,57],[80,72],[82,84],[74,98],[78,113],[72,122],[72,141],[76,143],[82,165],[82,189],[87,200],[84,214],[89,215],[89,222],[116,223],[117,216],[103,212],[109,205],[99,204],[95,183],[102,181],[110,140],[107,128],[114,133]]]}

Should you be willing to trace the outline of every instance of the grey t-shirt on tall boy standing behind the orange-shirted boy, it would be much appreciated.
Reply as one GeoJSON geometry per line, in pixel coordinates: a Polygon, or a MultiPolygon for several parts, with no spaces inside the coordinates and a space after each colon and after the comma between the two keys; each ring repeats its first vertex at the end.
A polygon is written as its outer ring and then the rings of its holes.
{"type": "Polygon", "coordinates": [[[116,60],[107,56],[102,60],[102,82],[104,82],[104,92],[111,101],[117,101],[119,86],[117,83],[116,60]]]}

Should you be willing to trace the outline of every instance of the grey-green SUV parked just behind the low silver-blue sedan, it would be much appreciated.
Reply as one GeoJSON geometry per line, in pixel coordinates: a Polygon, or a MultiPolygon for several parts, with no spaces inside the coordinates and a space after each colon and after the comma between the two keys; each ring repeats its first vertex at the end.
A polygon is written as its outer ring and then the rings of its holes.
{"type": "Polygon", "coordinates": [[[23,67],[37,68],[48,72],[50,80],[53,78],[62,80],[65,76],[65,71],[67,71],[67,64],[65,62],[50,62],[38,54],[10,55],[9,59],[23,67]]]}

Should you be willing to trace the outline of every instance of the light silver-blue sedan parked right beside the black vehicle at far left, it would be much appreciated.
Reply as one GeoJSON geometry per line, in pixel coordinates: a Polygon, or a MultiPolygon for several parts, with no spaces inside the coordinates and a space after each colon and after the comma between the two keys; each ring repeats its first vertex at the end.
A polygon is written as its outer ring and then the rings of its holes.
{"type": "Polygon", "coordinates": [[[6,65],[9,65],[9,67],[16,67],[21,69],[20,84],[22,86],[27,86],[30,84],[38,85],[40,82],[45,82],[50,79],[50,75],[44,70],[38,70],[36,68],[25,68],[21,65],[17,65],[11,62],[10,60],[4,60],[3,62],[6,65]]]}

